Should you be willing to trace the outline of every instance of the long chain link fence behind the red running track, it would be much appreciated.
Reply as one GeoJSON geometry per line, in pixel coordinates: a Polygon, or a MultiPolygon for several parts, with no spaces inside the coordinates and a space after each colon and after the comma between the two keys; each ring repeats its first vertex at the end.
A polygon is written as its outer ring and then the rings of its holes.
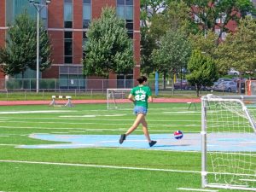
{"type": "MultiPolygon", "coordinates": [[[[30,100],[37,90],[36,79],[0,79],[1,100],[30,100]]],[[[39,79],[39,93],[41,100],[49,99],[52,95],[70,95],[75,99],[106,98],[107,89],[131,89],[137,85],[133,79],[39,79]]],[[[148,86],[155,95],[155,81],[148,80],[148,86]]],[[[172,86],[172,80],[158,81],[158,96],[196,97],[193,87],[172,86]],[[172,89],[173,87],[173,89],[172,89]]],[[[212,90],[201,90],[201,96],[212,93],[212,90]]],[[[214,95],[238,95],[214,91],[214,95]]],[[[239,94],[241,95],[241,94],[239,94]]]]}

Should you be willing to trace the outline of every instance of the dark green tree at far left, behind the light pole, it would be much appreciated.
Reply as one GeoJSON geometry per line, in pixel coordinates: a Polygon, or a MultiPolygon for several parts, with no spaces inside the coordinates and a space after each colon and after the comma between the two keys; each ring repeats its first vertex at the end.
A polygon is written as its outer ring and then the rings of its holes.
{"type": "MultiPolygon", "coordinates": [[[[12,26],[9,26],[9,31],[6,39],[5,48],[0,49],[0,57],[5,64],[3,72],[9,75],[22,74],[27,68],[36,70],[37,67],[37,22],[27,15],[26,11],[15,18],[12,26]]],[[[44,71],[50,67],[50,51],[51,46],[49,37],[40,25],[40,71],[44,71]]]]}

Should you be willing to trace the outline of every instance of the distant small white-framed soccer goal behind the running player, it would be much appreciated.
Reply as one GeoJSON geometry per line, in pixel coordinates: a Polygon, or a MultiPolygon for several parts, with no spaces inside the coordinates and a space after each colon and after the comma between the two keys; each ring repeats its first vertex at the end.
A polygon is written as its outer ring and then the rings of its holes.
{"type": "Polygon", "coordinates": [[[108,109],[131,108],[128,96],[131,89],[107,89],[108,109]]]}

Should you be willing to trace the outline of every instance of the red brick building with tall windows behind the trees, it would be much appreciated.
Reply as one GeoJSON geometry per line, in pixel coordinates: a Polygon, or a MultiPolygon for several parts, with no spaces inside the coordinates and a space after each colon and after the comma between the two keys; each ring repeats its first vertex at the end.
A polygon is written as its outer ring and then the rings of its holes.
{"type": "MultiPolygon", "coordinates": [[[[42,3],[45,0],[39,0],[42,3]]],[[[48,6],[41,10],[40,16],[49,32],[53,47],[52,67],[40,74],[42,79],[60,79],[60,84],[66,87],[70,82],[84,79],[83,45],[86,42],[86,32],[90,20],[101,15],[102,8],[116,8],[119,18],[126,20],[128,35],[133,39],[134,60],[136,67],[128,75],[110,74],[109,79],[136,79],[140,71],[140,1],[139,0],[51,0],[48,6]]],[[[7,24],[16,15],[27,9],[36,18],[37,10],[28,0],[0,1],[0,46],[4,46],[7,24]]],[[[4,79],[0,73],[0,79],[4,79]]],[[[19,78],[19,76],[15,77],[19,78]]],[[[27,71],[26,78],[35,79],[35,71],[27,71]]],[[[101,79],[87,77],[87,79],[101,79]]],[[[118,86],[112,80],[112,86],[118,86]]]]}

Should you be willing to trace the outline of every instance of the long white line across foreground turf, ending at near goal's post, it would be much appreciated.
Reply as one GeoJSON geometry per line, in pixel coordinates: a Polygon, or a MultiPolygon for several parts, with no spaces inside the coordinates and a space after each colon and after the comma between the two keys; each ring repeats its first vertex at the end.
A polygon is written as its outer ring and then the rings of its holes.
{"type": "Polygon", "coordinates": [[[38,162],[38,161],[26,161],[26,160],[0,160],[3,163],[25,163],[25,164],[41,164],[41,165],[55,165],[55,166],[87,166],[98,168],[110,168],[110,169],[128,169],[128,170],[142,170],[142,171],[155,171],[155,172],[188,172],[188,173],[201,173],[195,171],[183,171],[173,169],[157,169],[157,168],[143,168],[132,166],[101,166],[101,165],[88,165],[88,164],[76,164],[76,163],[55,163],[55,162],[38,162]]]}

